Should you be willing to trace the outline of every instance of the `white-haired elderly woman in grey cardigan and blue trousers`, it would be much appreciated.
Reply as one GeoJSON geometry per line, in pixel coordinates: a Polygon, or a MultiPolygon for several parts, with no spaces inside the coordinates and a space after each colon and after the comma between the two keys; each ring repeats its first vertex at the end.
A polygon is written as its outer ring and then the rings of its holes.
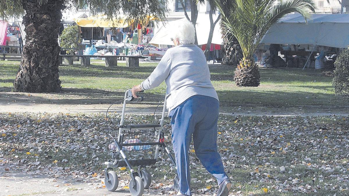
{"type": "Polygon", "coordinates": [[[174,30],[174,46],[136,92],[167,85],[166,103],[172,125],[172,143],[179,177],[177,195],[191,195],[188,150],[194,141],[195,154],[207,171],[217,178],[217,196],[229,194],[231,182],[217,152],[218,96],[202,50],[194,45],[195,30],[187,21],[174,30]]]}

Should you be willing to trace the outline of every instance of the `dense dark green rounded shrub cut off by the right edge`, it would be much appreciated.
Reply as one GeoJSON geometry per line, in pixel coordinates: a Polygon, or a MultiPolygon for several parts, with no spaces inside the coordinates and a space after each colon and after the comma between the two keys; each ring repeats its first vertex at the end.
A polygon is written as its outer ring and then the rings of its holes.
{"type": "Polygon", "coordinates": [[[349,49],[344,49],[334,63],[333,86],[336,95],[349,95],[349,49]]]}

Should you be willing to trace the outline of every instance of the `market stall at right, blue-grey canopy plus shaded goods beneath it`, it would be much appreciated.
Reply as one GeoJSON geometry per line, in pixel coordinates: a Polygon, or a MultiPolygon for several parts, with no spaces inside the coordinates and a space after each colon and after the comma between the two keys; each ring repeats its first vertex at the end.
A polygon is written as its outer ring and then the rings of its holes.
{"type": "Polygon", "coordinates": [[[286,65],[325,68],[333,64],[340,48],[348,47],[348,31],[348,14],[312,14],[307,23],[300,14],[288,14],[268,30],[260,43],[280,44],[286,65]]]}

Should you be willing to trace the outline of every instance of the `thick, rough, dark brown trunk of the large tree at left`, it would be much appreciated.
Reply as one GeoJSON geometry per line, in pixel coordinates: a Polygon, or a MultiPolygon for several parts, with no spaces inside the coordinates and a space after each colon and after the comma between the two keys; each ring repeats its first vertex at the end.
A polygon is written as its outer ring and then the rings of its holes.
{"type": "Polygon", "coordinates": [[[27,33],[21,67],[14,82],[18,92],[59,92],[60,61],[58,34],[64,0],[48,0],[39,5],[37,0],[22,0],[27,33]]]}

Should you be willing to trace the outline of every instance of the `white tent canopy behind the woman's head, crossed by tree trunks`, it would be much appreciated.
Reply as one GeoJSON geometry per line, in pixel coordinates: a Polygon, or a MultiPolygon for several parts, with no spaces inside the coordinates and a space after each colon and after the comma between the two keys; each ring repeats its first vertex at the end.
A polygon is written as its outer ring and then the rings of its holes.
{"type": "MultiPolygon", "coordinates": [[[[198,44],[203,45],[207,44],[208,34],[210,31],[210,22],[208,18],[208,14],[199,15],[198,20],[196,21],[196,36],[198,37],[198,44]]],[[[181,18],[175,21],[162,22],[159,23],[158,31],[155,32],[154,37],[150,40],[150,44],[162,44],[162,45],[173,45],[171,41],[171,31],[174,27],[178,26],[178,24],[187,20],[186,18],[181,18]]],[[[213,18],[215,21],[216,18],[213,18]]],[[[213,44],[223,44],[222,34],[219,22],[216,24],[216,27],[213,31],[213,44]]]]}

